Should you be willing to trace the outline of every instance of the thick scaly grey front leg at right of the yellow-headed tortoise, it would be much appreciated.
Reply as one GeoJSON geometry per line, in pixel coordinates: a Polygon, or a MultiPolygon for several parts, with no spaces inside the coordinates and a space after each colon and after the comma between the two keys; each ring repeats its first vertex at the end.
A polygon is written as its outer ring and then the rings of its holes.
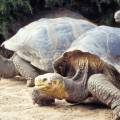
{"type": "Polygon", "coordinates": [[[120,90],[104,74],[95,74],[88,79],[88,90],[102,103],[113,110],[115,120],[120,119],[120,90]]]}

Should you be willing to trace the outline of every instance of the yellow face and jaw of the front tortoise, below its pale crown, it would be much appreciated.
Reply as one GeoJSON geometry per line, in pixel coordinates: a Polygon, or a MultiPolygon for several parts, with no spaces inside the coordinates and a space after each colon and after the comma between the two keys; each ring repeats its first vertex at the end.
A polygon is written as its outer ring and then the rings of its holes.
{"type": "Polygon", "coordinates": [[[57,99],[64,99],[68,97],[64,83],[58,79],[51,81],[48,81],[47,79],[35,80],[35,89],[57,99]]]}

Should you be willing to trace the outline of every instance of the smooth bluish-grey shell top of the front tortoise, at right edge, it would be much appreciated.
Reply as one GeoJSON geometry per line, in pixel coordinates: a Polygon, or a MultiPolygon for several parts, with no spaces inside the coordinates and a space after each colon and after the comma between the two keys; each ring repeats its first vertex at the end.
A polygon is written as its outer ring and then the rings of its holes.
{"type": "Polygon", "coordinates": [[[66,51],[80,50],[99,56],[120,71],[120,28],[99,26],[75,40],[66,51]]]}

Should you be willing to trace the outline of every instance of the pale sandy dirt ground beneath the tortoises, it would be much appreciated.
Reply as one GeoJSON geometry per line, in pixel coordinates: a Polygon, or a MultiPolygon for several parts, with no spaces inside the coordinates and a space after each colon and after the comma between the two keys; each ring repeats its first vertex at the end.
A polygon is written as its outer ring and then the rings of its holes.
{"type": "Polygon", "coordinates": [[[0,120],[112,120],[112,112],[93,104],[71,105],[56,100],[55,105],[33,105],[25,82],[0,80],[0,120]]]}

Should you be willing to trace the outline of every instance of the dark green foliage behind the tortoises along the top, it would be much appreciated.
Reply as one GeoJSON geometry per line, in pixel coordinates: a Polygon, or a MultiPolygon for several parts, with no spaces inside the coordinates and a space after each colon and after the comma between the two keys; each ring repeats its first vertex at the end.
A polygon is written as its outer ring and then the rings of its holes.
{"type": "Polygon", "coordinates": [[[9,38],[40,11],[57,7],[77,10],[98,24],[113,25],[120,0],[0,0],[0,40],[9,38]]]}

